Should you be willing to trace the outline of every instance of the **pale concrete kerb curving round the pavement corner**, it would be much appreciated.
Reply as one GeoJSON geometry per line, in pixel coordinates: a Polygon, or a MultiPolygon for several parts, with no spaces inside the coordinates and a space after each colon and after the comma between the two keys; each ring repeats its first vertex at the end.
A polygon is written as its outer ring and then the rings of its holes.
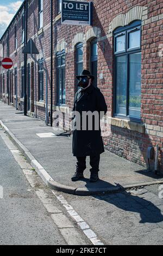
{"type": "Polygon", "coordinates": [[[153,182],[146,182],[141,184],[131,184],[126,186],[116,186],[116,187],[108,187],[108,188],[90,188],[89,190],[87,188],[75,188],[75,187],[69,187],[62,184],[59,184],[58,182],[54,181],[52,177],[47,173],[47,171],[41,166],[41,164],[35,159],[35,157],[29,152],[29,150],[20,142],[18,139],[14,136],[14,134],[8,129],[7,126],[5,126],[0,120],[0,124],[7,133],[7,135],[10,137],[12,142],[14,142],[17,146],[17,148],[22,151],[24,157],[26,157],[26,160],[31,164],[31,166],[36,170],[37,174],[41,177],[41,179],[45,182],[47,186],[52,188],[52,190],[65,192],[68,194],[74,194],[77,196],[91,196],[92,194],[99,194],[99,193],[116,193],[124,190],[129,190],[131,188],[141,187],[141,186],[149,186],[154,184],[163,184],[163,180],[161,181],[153,181],[153,182]]]}

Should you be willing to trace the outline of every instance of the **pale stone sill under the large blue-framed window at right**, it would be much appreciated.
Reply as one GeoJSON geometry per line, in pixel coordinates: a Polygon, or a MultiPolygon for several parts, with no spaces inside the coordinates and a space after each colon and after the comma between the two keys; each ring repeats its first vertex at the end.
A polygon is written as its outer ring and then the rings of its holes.
{"type": "Polygon", "coordinates": [[[145,133],[145,125],[121,118],[111,118],[111,125],[118,126],[131,131],[145,133]]]}

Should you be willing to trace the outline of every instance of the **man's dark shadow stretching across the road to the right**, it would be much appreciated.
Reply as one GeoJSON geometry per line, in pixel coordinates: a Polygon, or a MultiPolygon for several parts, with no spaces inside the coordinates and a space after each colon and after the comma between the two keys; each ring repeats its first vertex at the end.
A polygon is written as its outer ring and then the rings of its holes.
{"type": "MultiPolygon", "coordinates": [[[[154,205],[154,203],[150,202],[150,199],[155,203],[160,202],[159,204],[161,205],[161,199],[158,200],[153,198],[149,198],[148,200],[146,199],[146,194],[148,196],[148,192],[144,192],[142,194],[138,195],[133,195],[130,192],[124,191],[123,186],[120,184],[116,184],[116,186],[110,184],[109,182],[105,182],[102,180],[99,180],[96,184],[90,185],[89,180],[86,180],[86,185],[85,187],[88,190],[95,190],[97,188],[97,185],[101,185],[101,188],[108,187],[111,188],[111,190],[116,190],[117,193],[111,193],[111,194],[104,194],[104,195],[93,195],[98,200],[104,200],[105,202],[115,205],[117,208],[122,209],[124,211],[129,211],[129,212],[137,212],[140,214],[140,223],[160,223],[163,221],[163,215],[161,210],[158,208],[158,206],[154,205]],[[119,190],[119,192],[118,192],[119,190]]],[[[154,195],[155,196],[155,195],[154,195]]]]}

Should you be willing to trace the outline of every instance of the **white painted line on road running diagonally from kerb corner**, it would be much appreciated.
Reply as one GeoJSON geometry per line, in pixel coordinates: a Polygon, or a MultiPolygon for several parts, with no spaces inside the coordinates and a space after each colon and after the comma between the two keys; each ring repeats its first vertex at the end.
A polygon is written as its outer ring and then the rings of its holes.
{"type": "Polygon", "coordinates": [[[93,245],[104,245],[104,243],[102,243],[98,239],[97,235],[93,232],[92,229],[90,229],[89,225],[83,220],[83,218],[80,217],[76,211],[74,211],[73,207],[70,204],[68,204],[67,200],[61,194],[59,195],[58,192],[54,190],[52,190],[52,192],[55,195],[55,197],[57,197],[59,202],[65,207],[65,209],[67,210],[71,218],[73,218],[77,222],[80,229],[84,232],[87,238],[93,243],[93,245]]]}

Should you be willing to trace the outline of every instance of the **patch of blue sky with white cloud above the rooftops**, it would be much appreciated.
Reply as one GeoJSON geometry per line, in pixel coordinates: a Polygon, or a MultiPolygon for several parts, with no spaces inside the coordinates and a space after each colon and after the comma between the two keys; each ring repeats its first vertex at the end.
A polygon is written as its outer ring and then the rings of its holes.
{"type": "Polygon", "coordinates": [[[7,29],[16,11],[23,0],[1,0],[0,1],[0,38],[7,29]]]}

